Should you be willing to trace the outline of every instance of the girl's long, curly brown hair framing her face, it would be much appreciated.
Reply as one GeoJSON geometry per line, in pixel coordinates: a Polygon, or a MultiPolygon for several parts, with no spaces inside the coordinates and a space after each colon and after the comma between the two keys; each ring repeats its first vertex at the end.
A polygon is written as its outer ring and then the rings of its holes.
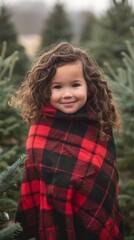
{"type": "Polygon", "coordinates": [[[32,124],[40,116],[44,104],[49,102],[50,84],[56,69],[76,61],[82,63],[88,87],[88,104],[97,116],[100,136],[105,138],[107,128],[120,128],[120,116],[112,92],[89,53],[69,43],[60,43],[41,53],[9,105],[21,111],[21,116],[27,124],[32,124]]]}

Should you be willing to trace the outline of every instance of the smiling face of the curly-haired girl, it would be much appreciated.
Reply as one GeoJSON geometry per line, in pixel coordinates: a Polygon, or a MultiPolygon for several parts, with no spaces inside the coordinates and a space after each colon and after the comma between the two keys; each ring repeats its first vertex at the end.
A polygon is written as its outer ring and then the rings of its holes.
{"type": "Polygon", "coordinates": [[[50,103],[56,109],[73,114],[87,101],[87,83],[82,63],[77,61],[58,67],[51,82],[50,103]]]}

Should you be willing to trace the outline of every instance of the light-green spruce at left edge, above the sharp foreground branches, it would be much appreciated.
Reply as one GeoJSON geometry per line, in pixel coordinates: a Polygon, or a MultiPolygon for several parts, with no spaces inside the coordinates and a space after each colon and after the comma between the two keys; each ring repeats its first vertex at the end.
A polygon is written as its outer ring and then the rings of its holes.
{"type": "Polygon", "coordinates": [[[5,57],[6,43],[3,44],[0,56],[0,169],[5,169],[23,152],[26,129],[21,118],[8,106],[14,92],[12,74],[18,52],[5,57]]]}

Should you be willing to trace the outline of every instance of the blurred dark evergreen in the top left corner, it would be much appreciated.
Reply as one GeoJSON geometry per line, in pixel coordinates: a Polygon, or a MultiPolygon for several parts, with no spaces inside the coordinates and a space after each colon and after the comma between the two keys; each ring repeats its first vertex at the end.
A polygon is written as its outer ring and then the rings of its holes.
{"type": "MultiPolygon", "coordinates": [[[[11,14],[5,5],[0,5],[0,51],[2,50],[2,43],[6,41],[8,49],[6,56],[11,55],[14,51],[19,52],[19,60],[15,65],[14,74],[16,73],[16,82],[24,76],[29,66],[28,56],[25,54],[24,47],[18,43],[18,35],[14,25],[11,23],[11,14]]],[[[19,83],[19,82],[18,82],[19,83]]]]}

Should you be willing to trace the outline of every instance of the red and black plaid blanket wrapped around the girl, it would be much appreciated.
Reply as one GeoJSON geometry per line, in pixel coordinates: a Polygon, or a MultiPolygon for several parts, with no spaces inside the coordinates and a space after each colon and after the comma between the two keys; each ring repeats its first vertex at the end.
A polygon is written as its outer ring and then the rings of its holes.
{"type": "Polygon", "coordinates": [[[44,108],[30,127],[17,239],[122,240],[115,145],[99,139],[95,115],[44,108]]]}

